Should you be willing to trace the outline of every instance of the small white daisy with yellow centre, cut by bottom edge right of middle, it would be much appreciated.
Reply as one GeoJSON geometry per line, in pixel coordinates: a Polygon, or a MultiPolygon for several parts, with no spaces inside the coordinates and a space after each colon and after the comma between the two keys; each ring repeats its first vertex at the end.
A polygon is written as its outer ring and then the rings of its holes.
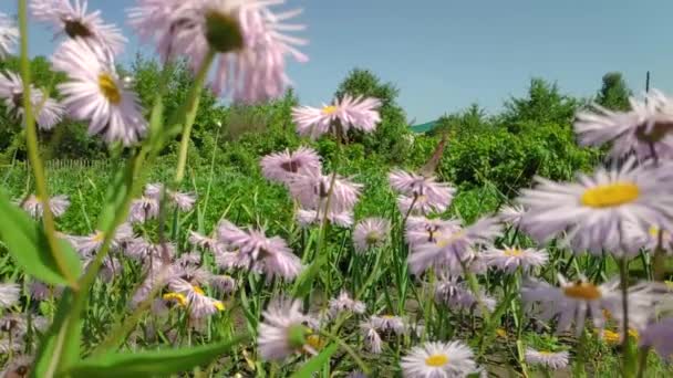
{"type": "Polygon", "coordinates": [[[477,365],[469,347],[460,342],[425,343],[402,358],[408,378],[457,378],[475,371],[477,365]]]}

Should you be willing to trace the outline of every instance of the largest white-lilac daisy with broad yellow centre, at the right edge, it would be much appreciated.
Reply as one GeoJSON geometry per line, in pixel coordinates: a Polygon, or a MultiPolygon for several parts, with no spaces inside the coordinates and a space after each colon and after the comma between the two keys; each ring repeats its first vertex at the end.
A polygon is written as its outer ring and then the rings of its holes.
{"type": "Polygon", "coordinates": [[[633,255],[638,249],[629,249],[624,237],[628,222],[670,228],[673,196],[670,178],[661,169],[635,166],[629,159],[619,169],[580,175],[578,181],[538,178],[537,188],[522,190],[520,201],[528,209],[525,231],[540,242],[566,231],[574,251],[633,255]]]}

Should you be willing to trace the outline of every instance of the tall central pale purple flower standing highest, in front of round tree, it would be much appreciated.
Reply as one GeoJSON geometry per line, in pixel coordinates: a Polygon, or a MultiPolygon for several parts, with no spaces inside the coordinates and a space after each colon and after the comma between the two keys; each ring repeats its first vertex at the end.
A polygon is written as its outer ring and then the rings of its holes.
{"type": "Polygon", "coordinates": [[[292,118],[299,135],[318,138],[323,134],[345,135],[350,129],[373,133],[381,122],[379,114],[381,101],[373,97],[349,94],[336,98],[332,105],[320,108],[298,106],[292,108],[292,118]]]}

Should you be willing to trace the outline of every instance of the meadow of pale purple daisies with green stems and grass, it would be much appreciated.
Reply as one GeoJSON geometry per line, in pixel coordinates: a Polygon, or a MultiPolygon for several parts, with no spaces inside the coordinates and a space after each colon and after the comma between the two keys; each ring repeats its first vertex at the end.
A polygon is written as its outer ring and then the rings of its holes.
{"type": "Polygon", "coordinates": [[[0,97],[30,162],[0,189],[3,377],[673,374],[673,98],[581,111],[578,144],[607,146],[607,160],[573,181],[539,177],[476,219],[436,175],[446,139],[416,170],[345,172],[349,133],[382,119],[367,96],[294,107],[307,145],[261,157],[263,179],[188,172],[201,91],[269,101],[290,83],[286,60],[308,61],[301,12],[284,8],[137,0],[127,31],[82,0],[20,0],[17,24],[0,17],[0,59],[21,57],[0,97]],[[31,84],[29,19],[58,36],[51,65],[68,80],[54,88],[31,84]],[[166,87],[144,108],[117,72],[125,33],[188,61],[175,114],[166,87]],[[45,170],[37,129],[63,119],[86,123],[114,169],[45,170]],[[309,145],[320,138],[335,143],[329,161],[309,145]],[[372,190],[385,195],[363,216],[372,190]]]}

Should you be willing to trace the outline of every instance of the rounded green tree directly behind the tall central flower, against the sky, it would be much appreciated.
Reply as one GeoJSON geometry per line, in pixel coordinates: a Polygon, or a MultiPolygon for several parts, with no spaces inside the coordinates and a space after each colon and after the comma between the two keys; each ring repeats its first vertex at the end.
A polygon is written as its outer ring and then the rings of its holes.
{"type": "Polygon", "coordinates": [[[371,96],[381,99],[381,124],[372,135],[354,134],[353,141],[360,141],[366,150],[374,150],[387,156],[393,161],[404,159],[406,135],[410,134],[406,115],[397,104],[400,90],[392,83],[384,83],[379,76],[369,70],[354,69],[339,84],[335,97],[341,98],[345,94],[354,96],[371,96]]]}

